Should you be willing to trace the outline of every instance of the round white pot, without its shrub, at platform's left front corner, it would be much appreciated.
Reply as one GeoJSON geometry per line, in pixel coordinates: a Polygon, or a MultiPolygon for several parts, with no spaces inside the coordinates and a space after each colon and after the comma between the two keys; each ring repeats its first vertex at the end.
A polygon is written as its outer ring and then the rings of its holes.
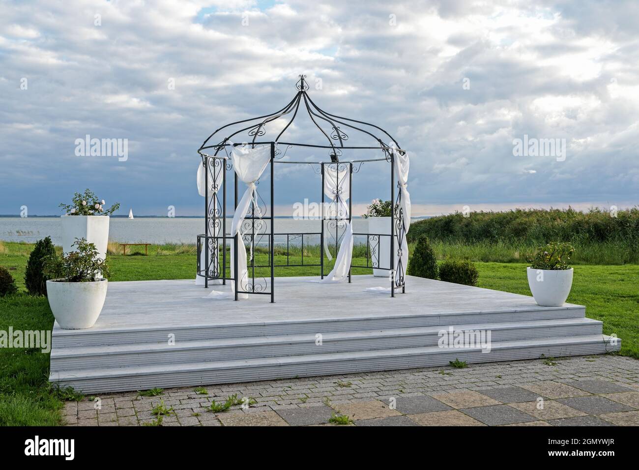
{"type": "Polygon", "coordinates": [[[92,327],[107,297],[107,279],[86,283],[47,281],[47,298],[56,321],[63,329],[92,327]]]}

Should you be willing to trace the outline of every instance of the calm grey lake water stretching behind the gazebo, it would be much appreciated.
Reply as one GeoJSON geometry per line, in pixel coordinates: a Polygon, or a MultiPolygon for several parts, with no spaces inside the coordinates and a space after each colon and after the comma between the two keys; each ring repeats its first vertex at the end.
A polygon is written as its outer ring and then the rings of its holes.
{"type": "MultiPolygon", "coordinates": [[[[267,224],[268,226],[268,224],[267,224]]],[[[226,230],[231,219],[226,221],[226,230]]],[[[270,230],[270,229],[267,229],[270,230]]],[[[275,233],[319,232],[318,220],[275,219],[275,233]]],[[[366,219],[353,219],[353,231],[366,233],[366,219]]],[[[195,244],[197,235],[204,233],[203,218],[149,217],[125,219],[111,218],[109,239],[121,243],[189,243],[195,244]]],[[[51,237],[56,245],[62,243],[59,217],[0,217],[0,240],[33,243],[51,237]]],[[[282,241],[276,239],[276,243],[282,241]]],[[[304,242],[316,244],[319,237],[305,237],[304,242]]]]}

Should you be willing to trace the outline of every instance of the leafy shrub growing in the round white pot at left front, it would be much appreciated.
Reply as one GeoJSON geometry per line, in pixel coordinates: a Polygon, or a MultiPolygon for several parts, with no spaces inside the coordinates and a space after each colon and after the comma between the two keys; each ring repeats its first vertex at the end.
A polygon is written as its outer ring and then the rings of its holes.
{"type": "Polygon", "coordinates": [[[46,256],[43,260],[45,276],[50,279],[64,279],[65,282],[79,283],[106,279],[111,274],[106,260],[102,260],[95,244],[86,239],[75,239],[72,246],[77,247],[66,255],[46,256]]]}

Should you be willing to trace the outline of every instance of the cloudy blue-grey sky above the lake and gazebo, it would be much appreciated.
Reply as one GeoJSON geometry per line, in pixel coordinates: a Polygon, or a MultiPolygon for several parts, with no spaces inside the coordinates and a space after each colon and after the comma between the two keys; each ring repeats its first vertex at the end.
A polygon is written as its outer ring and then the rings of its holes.
{"type": "MultiPolygon", "coordinates": [[[[23,205],[58,214],[90,187],[107,206],[120,201],[120,213],[173,205],[197,215],[197,148],[225,123],[281,109],[299,74],[318,106],[371,121],[408,150],[415,215],[639,203],[636,1],[0,0],[0,9],[0,214],[23,205]],[[128,159],[76,155],[87,134],[128,139],[128,159]],[[514,139],[558,139],[566,152],[514,155],[514,139]]],[[[323,145],[304,118],[282,140],[323,145]]],[[[327,155],[294,148],[286,158],[327,155]]],[[[306,167],[277,168],[279,214],[318,200],[306,167]]],[[[388,178],[384,164],[362,166],[356,207],[388,199],[388,178]]]]}

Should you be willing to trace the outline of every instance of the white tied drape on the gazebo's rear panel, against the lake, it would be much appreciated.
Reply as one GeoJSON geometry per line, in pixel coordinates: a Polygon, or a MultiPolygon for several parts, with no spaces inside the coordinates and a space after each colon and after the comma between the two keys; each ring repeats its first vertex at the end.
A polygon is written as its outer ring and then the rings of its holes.
{"type": "MultiPolygon", "coordinates": [[[[339,167],[339,163],[335,166],[339,167]]],[[[348,270],[351,266],[351,258],[353,257],[353,226],[348,221],[348,199],[350,198],[350,165],[344,165],[344,169],[334,168],[333,166],[325,166],[324,169],[324,194],[331,200],[330,217],[344,219],[346,230],[339,245],[339,251],[335,258],[335,266],[333,269],[319,282],[336,283],[342,282],[348,277],[348,270]]],[[[324,221],[322,221],[324,223],[324,221]]],[[[328,237],[324,237],[325,251],[328,259],[331,260],[330,251],[328,250],[328,237]]]]}

